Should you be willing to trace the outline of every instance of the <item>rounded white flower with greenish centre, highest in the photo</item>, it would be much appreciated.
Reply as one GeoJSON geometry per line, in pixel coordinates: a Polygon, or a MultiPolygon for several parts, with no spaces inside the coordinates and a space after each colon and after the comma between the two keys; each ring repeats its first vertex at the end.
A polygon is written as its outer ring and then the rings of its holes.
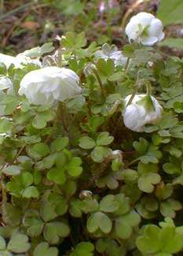
{"type": "Polygon", "coordinates": [[[144,46],[152,46],[164,38],[161,20],[151,13],[138,13],[126,25],[126,35],[129,40],[134,40],[144,46]]]}

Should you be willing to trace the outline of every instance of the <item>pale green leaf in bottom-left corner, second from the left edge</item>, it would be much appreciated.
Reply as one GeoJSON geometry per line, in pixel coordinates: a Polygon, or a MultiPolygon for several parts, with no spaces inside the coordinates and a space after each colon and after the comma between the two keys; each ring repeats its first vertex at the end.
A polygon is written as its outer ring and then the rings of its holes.
{"type": "Polygon", "coordinates": [[[16,253],[22,254],[27,252],[30,248],[30,243],[28,243],[28,237],[23,234],[13,234],[7,246],[8,250],[16,253]]]}

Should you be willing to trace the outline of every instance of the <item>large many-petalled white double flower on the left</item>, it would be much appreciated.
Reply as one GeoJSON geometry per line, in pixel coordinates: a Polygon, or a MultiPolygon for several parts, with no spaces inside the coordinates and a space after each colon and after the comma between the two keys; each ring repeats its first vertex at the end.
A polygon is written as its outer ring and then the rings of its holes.
{"type": "Polygon", "coordinates": [[[35,105],[64,102],[81,93],[79,76],[71,69],[46,67],[28,72],[20,82],[19,95],[26,95],[35,105]]]}

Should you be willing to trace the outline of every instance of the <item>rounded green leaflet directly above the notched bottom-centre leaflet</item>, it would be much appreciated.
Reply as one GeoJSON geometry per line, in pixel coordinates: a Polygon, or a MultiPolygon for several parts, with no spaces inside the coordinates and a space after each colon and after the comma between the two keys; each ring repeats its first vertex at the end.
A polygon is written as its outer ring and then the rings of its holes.
{"type": "Polygon", "coordinates": [[[119,202],[115,201],[114,195],[106,195],[101,199],[100,210],[104,213],[113,213],[119,208],[119,202]]]}

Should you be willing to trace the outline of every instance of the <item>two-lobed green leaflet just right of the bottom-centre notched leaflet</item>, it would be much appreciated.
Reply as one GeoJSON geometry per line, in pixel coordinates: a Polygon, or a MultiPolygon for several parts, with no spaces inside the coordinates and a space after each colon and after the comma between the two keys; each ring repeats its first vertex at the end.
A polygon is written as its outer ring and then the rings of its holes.
{"type": "Polygon", "coordinates": [[[141,217],[134,210],[125,215],[115,218],[115,234],[120,239],[128,239],[132,232],[133,227],[137,226],[141,221],[141,217]]]}

